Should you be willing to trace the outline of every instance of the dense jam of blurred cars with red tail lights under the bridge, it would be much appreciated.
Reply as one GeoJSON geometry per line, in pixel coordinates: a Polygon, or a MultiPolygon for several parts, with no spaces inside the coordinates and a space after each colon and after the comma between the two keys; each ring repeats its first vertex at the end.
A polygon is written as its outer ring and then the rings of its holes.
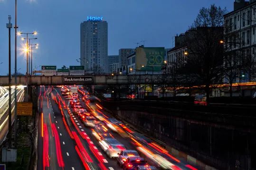
{"type": "MultiPolygon", "coordinates": [[[[122,121],[117,120],[100,105],[101,100],[81,86],[62,86],[61,95],[64,108],[70,113],[72,121],[79,125],[80,122],[86,128],[79,133],[85,136],[91,148],[99,146],[109,159],[116,161],[120,169],[123,170],[197,170],[189,164],[182,162],[172,156],[166,149],[154,142],[149,137],[136,132],[122,121]],[[78,122],[77,118],[80,120],[78,122]],[[96,143],[89,137],[92,134],[96,143]],[[120,142],[121,141],[121,142],[120,142]],[[131,145],[127,144],[127,141],[131,145]],[[123,142],[123,143],[122,143],[123,142]]],[[[74,125],[76,125],[74,124],[74,125]]],[[[78,128],[78,127],[77,127],[78,128]]],[[[75,137],[75,136],[73,136],[75,137]]],[[[95,155],[99,153],[99,150],[95,155]]],[[[82,151],[81,151],[82,154],[82,151]]],[[[103,159],[102,162],[107,162],[103,159]]],[[[84,157],[85,162],[88,159],[84,157]]],[[[85,163],[83,163],[85,165],[85,163]]],[[[104,165],[99,165],[105,169],[104,165]]],[[[85,166],[85,169],[86,166],[85,166]]]]}

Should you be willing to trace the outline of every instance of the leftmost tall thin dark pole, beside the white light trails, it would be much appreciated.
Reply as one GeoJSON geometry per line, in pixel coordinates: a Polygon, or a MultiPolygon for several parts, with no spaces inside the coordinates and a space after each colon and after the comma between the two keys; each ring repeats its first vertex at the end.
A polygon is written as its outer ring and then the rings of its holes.
{"type": "Polygon", "coordinates": [[[8,16],[9,23],[6,24],[6,27],[9,29],[9,109],[8,109],[8,148],[11,148],[11,59],[10,59],[10,29],[12,24],[10,23],[10,15],[8,16]]]}

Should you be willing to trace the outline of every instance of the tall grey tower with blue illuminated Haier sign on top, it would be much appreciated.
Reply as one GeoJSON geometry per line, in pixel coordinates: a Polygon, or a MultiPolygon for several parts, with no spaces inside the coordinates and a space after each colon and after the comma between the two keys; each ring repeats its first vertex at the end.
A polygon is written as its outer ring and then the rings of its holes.
{"type": "Polygon", "coordinates": [[[80,25],[80,65],[86,73],[105,73],[107,65],[107,22],[102,17],[87,17],[80,25]]]}

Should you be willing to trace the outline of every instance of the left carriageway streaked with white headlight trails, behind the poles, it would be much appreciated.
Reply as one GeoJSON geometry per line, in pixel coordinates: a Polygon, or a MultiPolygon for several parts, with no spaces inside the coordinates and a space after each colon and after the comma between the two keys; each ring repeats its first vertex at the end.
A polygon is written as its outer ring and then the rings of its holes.
{"type": "MultiPolygon", "coordinates": [[[[23,101],[24,89],[22,86],[17,88],[17,100],[23,101]]],[[[14,122],[14,88],[11,89],[11,119],[14,122]]],[[[9,110],[9,91],[8,87],[0,87],[0,143],[2,143],[8,133],[8,110],[9,110]]]]}

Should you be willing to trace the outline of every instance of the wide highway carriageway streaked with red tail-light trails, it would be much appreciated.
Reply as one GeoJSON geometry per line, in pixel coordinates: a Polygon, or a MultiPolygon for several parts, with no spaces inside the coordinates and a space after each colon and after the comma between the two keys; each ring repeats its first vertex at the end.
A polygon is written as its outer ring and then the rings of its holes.
{"type": "Polygon", "coordinates": [[[121,170],[116,159],[110,158],[102,149],[103,139],[98,138],[101,135],[122,143],[122,150],[136,150],[157,169],[197,170],[146,136],[113,119],[97,98],[89,97],[83,101],[83,95],[78,93],[80,104],[96,119],[96,127],[88,127],[74,112],[70,97],[61,95],[60,88],[41,86],[38,93],[38,170],[121,170]]]}

